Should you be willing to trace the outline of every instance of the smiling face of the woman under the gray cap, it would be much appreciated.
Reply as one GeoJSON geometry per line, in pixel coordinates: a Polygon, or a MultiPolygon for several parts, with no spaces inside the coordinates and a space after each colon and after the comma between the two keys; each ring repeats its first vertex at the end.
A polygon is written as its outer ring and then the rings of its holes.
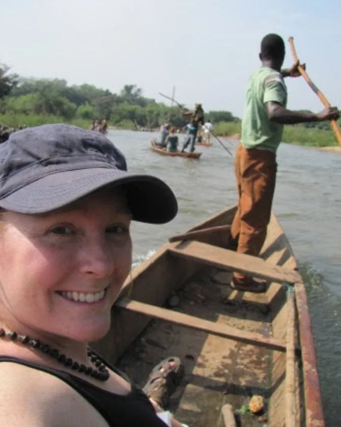
{"type": "Polygon", "coordinates": [[[0,310],[32,337],[102,337],[131,268],[125,194],[100,190],[46,215],[5,212],[0,310]]]}

